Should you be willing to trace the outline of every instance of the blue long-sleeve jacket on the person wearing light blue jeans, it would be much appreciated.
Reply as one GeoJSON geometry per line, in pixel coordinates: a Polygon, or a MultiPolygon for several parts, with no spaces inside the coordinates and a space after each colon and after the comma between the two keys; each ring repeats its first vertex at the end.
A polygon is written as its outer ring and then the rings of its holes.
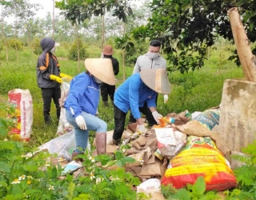
{"type": "Polygon", "coordinates": [[[70,82],[70,91],[64,103],[74,118],[82,113],[96,114],[99,102],[99,85],[85,72],[75,76],[70,82]]]}

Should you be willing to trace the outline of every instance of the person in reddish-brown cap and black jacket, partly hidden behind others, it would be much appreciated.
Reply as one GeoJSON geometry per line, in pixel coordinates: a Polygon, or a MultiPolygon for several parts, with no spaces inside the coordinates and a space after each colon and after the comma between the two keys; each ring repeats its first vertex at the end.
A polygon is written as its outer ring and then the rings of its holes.
{"type": "MultiPolygon", "coordinates": [[[[110,58],[114,70],[114,75],[118,75],[119,73],[119,62],[116,58],[112,57],[113,54],[113,48],[110,45],[104,46],[103,49],[103,57],[102,58],[110,58]]],[[[108,96],[110,96],[110,100],[113,103],[114,102],[114,91],[115,86],[110,86],[106,84],[106,82],[102,82],[101,84],[101,95],[102,95],[102,102],[105,106],[108,106],[108,96]]]]}

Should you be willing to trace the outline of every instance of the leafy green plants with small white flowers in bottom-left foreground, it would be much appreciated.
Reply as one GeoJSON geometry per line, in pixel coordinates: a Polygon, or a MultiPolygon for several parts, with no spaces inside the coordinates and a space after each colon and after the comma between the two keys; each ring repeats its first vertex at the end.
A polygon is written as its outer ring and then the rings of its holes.
{"type": "MultiPolygon", "coordinates": [[[[127,162],[134,162],[134,158],[124,154],[129,146],[123,146],[113,156],[102,154],[94,158],[89,151],[78,155],[84,159],[82,173],[78,177],[66,174],[66,177],[60,178],[60,163],[54,165],[52,155],[46,152],[34,154],[36,149],[27,147],[26,143],[13,141],[7,134],[10,124],[9,120],[0,118],[0,198],[136,198],[136,191],[131,188],[138,186],[140,181],[122,167],[127,162]],[[116,166],[116,169],[110,170],[110,166],[116,166]]],[[[58,160],[63,161],[62,158],[58,160]]]]}

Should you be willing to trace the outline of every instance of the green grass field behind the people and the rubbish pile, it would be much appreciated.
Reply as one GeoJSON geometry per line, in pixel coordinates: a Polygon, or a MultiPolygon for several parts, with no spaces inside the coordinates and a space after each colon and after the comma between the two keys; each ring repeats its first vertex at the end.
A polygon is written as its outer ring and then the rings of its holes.
{"type": "MultiPolygon", "coordinates": [[[[56,51],[57,58],[61,65],[61,70],[65,74],[75,76],[85,70],[84,62],[72,62],[63,58],[65,47],[60,46],[56,51]],[[59,52],[59,55],[58,55],[59,52]]],[[[101,50],[95,46],[88,46],[87,52],[91,58],[99,58],[101,50]]],[[[14,88],[28,89],[33,98],[34,121],[33,133],[31,134],[30,146],[39,146],[52,138],[57,137],[57,126],[44,126],[42,118],[42,96],[41,90],[36,82],[36,64],[38,55],[30,53],[30,50],[23,50],[19,53],[19,62],[16,61],[15,53],[9,52],[9,62],[2,61],[0,66],[0,106],[5,106],[8,99],[8,91],[14,88]]],[[[235,66],[234,62],[227,61],[230,52],[225,49],[211,50],[209,60],[206,60],[205,66],[201,70],[190,71],[187,74],[174,72],[169,74],[172,84],[172,92],[169,95],[169,101],[163,103],[163,95],[158,96],[158,111],[166,115],[171,112],[179,113],[184,110],[194,111],[206,110],[213,106],[218,106],[222,99],[223,82],[228,78],[243,78],[242,68],[235,66]]],[[[118,58],[120,63],[120,73],[117,86],[122,84],[122,54],[116,50],[114,57],[118,58]]],[[[4,52],[1,52],[0,58],[5,60],[4,52]]],[[[132,74],[133,68],[126,67],[126,78],[132,74]]],[[[113,107],[103,106],[100,101],[98,106],[100,118],[108,124],[108,130],[114,129],[113,107]]],[[[51,107],[51,116],[56,120],[54,103],[51,107]]],[[[126,122],[128,121],[128,116],[126,122]]],[[[5,110],[0,110],[0,117],[6,117],[5,110]]],[[[56,122],[57,123],[57,122],[56,122]]],[[[90,133],[93,136],[93,132],[90,133]]],[[[90,137],[92,142],[93,137],[90,137]]]]}

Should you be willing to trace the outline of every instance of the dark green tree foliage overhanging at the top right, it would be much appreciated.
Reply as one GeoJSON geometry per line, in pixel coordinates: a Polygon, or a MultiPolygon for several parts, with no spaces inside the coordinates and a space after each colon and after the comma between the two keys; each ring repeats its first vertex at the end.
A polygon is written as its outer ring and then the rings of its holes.
{"type": "Polygon", "coordinates": [[[242,16],[248,38],[255,42],[255,1],[240,0],[153,0],[149,22],[133,30],[132,36],[139,40],[160,39],[170,61],[169,70],[196,70],[204,66],[206,49],[218,36],[233,40],[227,10],[234,6],[242,16]]]}

